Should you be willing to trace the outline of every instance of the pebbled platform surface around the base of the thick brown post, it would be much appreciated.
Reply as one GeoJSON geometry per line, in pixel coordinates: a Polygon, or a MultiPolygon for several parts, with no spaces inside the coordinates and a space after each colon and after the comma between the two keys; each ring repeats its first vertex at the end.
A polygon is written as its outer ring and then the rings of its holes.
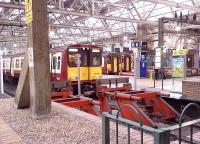
{"type": "MultiPolygon", "coordinates": [[[[47,119],[33,120],[29,109],[16,110],[13,98],[0,100],[0,117],[27,144],[101,144],[101,118],[52,103],[52,113],[47,119]]],[[[127,128],[120,127],[120,143],[127,143],[127,128]]],[[[132,142],[140,141],[140,132],[133,130],[132,142]]],[[[145,143],[153,138],[144,135],[145,143]]],[[[111,143],[115,143],[115,124],[111,123],[111,143]]],[[[4,144],[4,143],[3,143],[4,144]]]]}

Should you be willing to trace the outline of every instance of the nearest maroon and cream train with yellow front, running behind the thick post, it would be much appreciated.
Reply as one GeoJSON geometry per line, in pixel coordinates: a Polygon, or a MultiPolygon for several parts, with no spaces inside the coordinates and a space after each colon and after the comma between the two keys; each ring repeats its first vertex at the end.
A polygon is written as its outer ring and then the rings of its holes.
{"type": "MultiPolygon", "coordinates": [[[[81,55],[80,81],[82,93],[95,89],[96,79],[102,78],[102,47],[74,44],[50,49],[51,81],[70,81],[77,93],[77,54],[81,55]]],[[[4,80],[18,82],[24,61],[24,53],[3,56],[4,80]]]]}

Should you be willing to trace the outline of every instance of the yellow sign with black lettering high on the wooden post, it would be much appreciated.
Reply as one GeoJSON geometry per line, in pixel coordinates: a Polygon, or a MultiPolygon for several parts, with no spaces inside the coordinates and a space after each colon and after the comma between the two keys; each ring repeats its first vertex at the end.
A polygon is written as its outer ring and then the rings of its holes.
{"type": "Polygon", "coordinates": [[[25,0],[25,16],[26,24],[29,24],[33,21],[32,0],[25,0]]]}

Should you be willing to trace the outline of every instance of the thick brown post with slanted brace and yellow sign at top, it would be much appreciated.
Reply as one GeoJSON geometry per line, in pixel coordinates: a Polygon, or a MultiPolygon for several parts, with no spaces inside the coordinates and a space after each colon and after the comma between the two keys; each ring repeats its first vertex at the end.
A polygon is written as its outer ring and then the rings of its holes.
{"type": "MultiPolygon", "coordinates": [[[[32,117],[40,119],[48,116],[51,111],[47,0],[26,0],[25,3],[28,32],[29,98],[32,117]]],[[[23,70],[28,71],[25,66],[23,70]]],[[[18,88],[19,96],[15,101],[18,108],[21,108],[21,103],[26,102],[23,93],[20,93],[26,87],[25,81],[28,77],[23,70],[20,78],[24,77],[24,82],[19,82],[18,87],[22,88],[18,88]]],[[[27,93],[28,89],[26,90],[27,93]]],[[[28,106],[28,103],[26,104],[28,106]]]]}

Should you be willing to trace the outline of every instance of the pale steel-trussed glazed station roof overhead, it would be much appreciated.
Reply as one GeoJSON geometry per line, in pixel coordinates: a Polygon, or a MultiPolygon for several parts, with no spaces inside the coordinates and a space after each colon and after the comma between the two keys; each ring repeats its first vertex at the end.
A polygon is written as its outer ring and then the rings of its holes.
{"type": "MultiPolygon", "coordinates": [[[[0,0],[1,49],[26,48],[24,3],[0,0]]],[[[124,36],[134,38],[138,25],[156,33],[161,17],[196,13],[199,19],[200,13],[200,0],[48,0],[47,5],[52,47],[120,42],[124,36]]]]}

